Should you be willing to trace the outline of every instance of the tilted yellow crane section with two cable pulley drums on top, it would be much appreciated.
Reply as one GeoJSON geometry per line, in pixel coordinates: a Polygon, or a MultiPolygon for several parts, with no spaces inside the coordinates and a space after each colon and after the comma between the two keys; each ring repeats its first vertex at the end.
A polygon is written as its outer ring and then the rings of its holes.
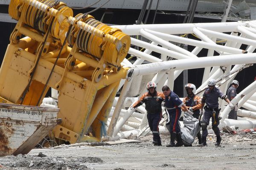
{"type": "Polygon", "coordinates": [[[58,144],[102,140],[113,100],[128,68],[130,37],[55,0],[11,0],[17,20],[0,68],[2,103],[38,106],[58,90],[58,144]]]}

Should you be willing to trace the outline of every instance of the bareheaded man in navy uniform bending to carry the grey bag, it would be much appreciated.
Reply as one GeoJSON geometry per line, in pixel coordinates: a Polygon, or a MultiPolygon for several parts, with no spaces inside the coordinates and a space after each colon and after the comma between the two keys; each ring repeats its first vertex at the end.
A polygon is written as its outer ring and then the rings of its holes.
{"type": "Polygon", "coordinates": [[[183,145],[180,135],[180,126],[178,122],[181,115],[180,107],[183,107],[183,109],[191,115],[193,113],[188,110],[185,104],[180,100],[179,96],[177,96],[175,92],[172,92],[170,90],[169,86],[163,86],[162,91],[165,95],[165,106],[170,118],[170,144],[168,144],[166,147],[180,147],[183,145]],[[177,139],[176,144],[175,138],[177,139]]]}

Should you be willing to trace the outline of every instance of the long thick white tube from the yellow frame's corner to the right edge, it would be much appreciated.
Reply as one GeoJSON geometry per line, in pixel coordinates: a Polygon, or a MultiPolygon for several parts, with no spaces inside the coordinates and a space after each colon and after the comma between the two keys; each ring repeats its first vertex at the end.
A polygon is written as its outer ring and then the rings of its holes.
{"type": "Polygon", "coordinates": [[[181,69],[196,69],[206,66],[223,66],[230,64],[244,64],[244,63],[255,63],[256,54],[247,53],[240,55],[225,55],[225,56],[213,56],[204,58],[193,58],[174,60],[174,61],[163,61],[157,63],[148,63],[134,66],[134,75],[148,75],[157,72],[168,72],[170,70],[181,70],[181,69]]]}

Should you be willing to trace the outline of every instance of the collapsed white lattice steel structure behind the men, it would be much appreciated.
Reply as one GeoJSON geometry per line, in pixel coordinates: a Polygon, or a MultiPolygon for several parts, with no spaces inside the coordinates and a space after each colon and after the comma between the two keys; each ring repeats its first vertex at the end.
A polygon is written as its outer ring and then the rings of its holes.
{"type": "MultiPolygon", "coordinates": [[[[187,23],[187,24],[152,24],[152,25],[124,25],[115,26],[124,33],[142,38],[131,37],[129,54],[137,57],[134,63],[127,59],[122,62],[128,66],[128,76],[119,84],[122,90],[119,98],[116,98],[110,118],[108,119],[107,135],[112,139],[127,138],[128,136],[146,135],[150,132],[147,125],[145,106],[137,108],[136,112],[128,109],[131,104],[138,100],[137,95],[146,92],[147,81],[154,81],[158,87],[168,85],[173,89],[174,81],[185,69],[204,68],[202,85],[198,87],[197,94],[202,95],[207,87],[207,80],[215,78],[217,86],[226,93],[231,81],[242,69],[256,63],[256,21],[229,22],[229,23],[187,23]],[[228,34],[229,33],[229,34],[228,34]],[[199,40],[185,36],[193,34],[199,40]],[[223,43],[220,45],[219,43],[223,43]],[[194,46],[192,52],[187,51],[179,44],[194,46]],[[247,45],[245,50],[241,45],[247,45]],[[204,57],[197,55],[202,49],[208,49],[204,57]],[[214,51],[218,55],[214,55],[214,51]],[[152,52],[160,53],[160,58],[151,55],[152,52]],[[175,60],[170,60],[174,58],[175,60]],[[169,61],[168,61],[169,60],[169,61]],[[145,64],[142,64],[146,61],[145,64]],[[233,66],[233,67],[232,67],[233,66]]],[[[238,104],[238,115],[244,118],[239,120],[227,119],[230,108],[227,103],[219,100],[221,107],[221,124],[219,127],[235,125],[239,129],[253,128],[256,125],[256,81],[242,90],[233,104],[238,104]],[[251,119],[250,119],[251,118],[251,119]]],[[[166,112],[163,109],[163,115],[166,112]]],[[[166,117],[166,116],[165,116],[166,117]]],[[[165,130],[160,122],[160,130],[165,130]]],[[[210,128],[210,125],[209,125],[210,128]]],[[[167,130],[166,130],[167,131],[167,130]]]]}

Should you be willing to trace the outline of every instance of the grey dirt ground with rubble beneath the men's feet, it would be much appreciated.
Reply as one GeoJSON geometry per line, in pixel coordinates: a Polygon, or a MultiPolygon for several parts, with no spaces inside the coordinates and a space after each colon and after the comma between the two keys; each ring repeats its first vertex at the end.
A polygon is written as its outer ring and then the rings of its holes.
{"type": "Polygon", "coordinates": [[[256,134],[215,135],[208,147],[166,147],[169,135],[161,134],[163,146],[153,146],[152,135],[141,143],[90,146],[88,143],[33,149],[27,155],[0,158],[1,170],[253,170],[256,167],[256,134]]]}

